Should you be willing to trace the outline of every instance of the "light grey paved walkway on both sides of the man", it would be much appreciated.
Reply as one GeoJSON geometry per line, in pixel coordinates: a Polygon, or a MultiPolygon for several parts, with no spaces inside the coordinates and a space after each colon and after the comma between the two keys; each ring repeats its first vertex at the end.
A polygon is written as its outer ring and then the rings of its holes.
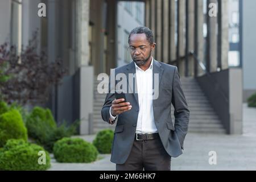
{"type": "MultiPolygon", "coordinates": [[[[188,133],[184,153],[172,158],[172,170],[256,170],[256,109],[243,104],[243,135],[188,133]],[[209,151],[216,151],[217,164],[210,165],[209,151]]],[[[92,141],[94,135],[80,136],[92,141]]],[[[115,170],[110,155],[90,164],[56,163],[50,170],[115,170]]]]}

